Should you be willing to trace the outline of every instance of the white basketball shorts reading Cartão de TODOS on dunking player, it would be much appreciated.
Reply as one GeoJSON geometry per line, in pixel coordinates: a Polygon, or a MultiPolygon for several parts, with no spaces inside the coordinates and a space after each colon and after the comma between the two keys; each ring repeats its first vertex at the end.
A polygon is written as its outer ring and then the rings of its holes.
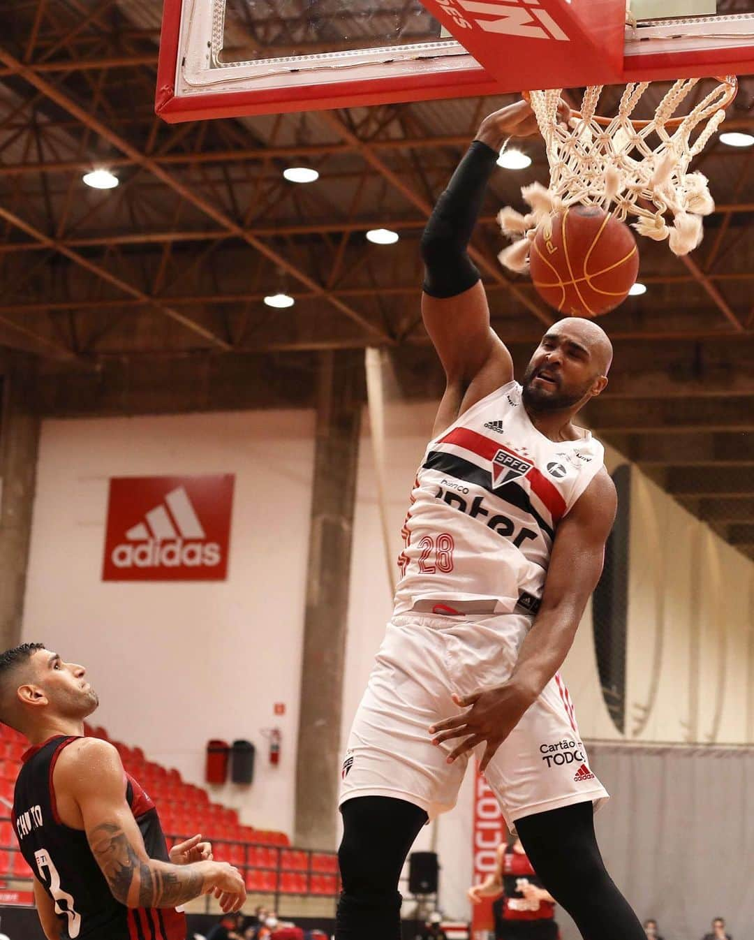
{"type": "MultiPolygon", "coordinates": [[[[432,819],[455,806],[468,755],[447,763],[461,739],[437,746],[428,729],[460,713],[452,693],[471,695],[511,675],[532,623],[516,614],[488,618],[395,616],[369,677],[343,761],[340,803],[391,796],[432,819]]],[[[474,753],[481,759],[484,744],[474,753]]],[[[532,813],[591,800],[607,791],[589,770],[573,704],[559,674],[495,752],[485,772],[509,828],[532,813]]]]}

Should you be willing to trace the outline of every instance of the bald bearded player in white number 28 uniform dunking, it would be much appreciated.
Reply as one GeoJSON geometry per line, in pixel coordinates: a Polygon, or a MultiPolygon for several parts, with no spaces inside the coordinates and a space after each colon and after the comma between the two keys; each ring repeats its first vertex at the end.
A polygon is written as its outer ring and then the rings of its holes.
{"type": "Polygon", "coordinates": [[[558,321],[517,384],[466,252],[503,141],[531,133],[526,102],[485,118],[422,238],[422,312],[447,387],[343,764],[337,940],[400,937],[404,859],[455,804],[472,753],[583,936],[644,938],[597,847],[607,793],[558,674],[615,517],[603,447],[572,424],[605,389],[610,342],[591,321],[558,321]]]}

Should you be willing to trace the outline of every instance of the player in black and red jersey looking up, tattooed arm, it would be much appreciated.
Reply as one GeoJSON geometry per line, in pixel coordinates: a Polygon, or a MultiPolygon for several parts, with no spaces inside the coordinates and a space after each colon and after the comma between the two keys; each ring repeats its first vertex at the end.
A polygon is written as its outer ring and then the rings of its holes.
{"type": "Polygon", "coordinates": [[[246,894],[200,836],[167,852],[157,810],[112,744],[84,737],[99,699],[84,666],[40,643],[0,654],[0,720],[32,745],[16,781],[13,828],[34,872],[48,940],[185,940],[177,906],[246,894]]]}

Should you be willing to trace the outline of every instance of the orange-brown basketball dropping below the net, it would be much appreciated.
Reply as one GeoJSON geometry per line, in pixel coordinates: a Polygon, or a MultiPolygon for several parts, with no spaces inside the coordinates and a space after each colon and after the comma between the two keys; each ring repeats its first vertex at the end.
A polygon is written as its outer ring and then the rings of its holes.
{"type": "Polygon", "coordinates": [[[596,206],[571,206],[537,232],[531,279],[560,313],[599,317],[622,303],[636,281],[638,250],[631,229],[596,206]]]}

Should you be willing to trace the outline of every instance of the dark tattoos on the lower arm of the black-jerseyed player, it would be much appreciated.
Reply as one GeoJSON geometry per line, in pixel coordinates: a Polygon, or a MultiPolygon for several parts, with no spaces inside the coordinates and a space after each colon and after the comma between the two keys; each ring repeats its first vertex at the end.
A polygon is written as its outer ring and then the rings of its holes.
{"type": "Polygon", "coordinates": [[[91,851],[107,879],[113,897],[128,904],[134,878],[138,878],[139,907],[176,907],[197,898],[204,877],[191,866],[173,871],[153,869],[134,852],[126,834],[113,823],[98,825],[89,836],[91,851]]]}

